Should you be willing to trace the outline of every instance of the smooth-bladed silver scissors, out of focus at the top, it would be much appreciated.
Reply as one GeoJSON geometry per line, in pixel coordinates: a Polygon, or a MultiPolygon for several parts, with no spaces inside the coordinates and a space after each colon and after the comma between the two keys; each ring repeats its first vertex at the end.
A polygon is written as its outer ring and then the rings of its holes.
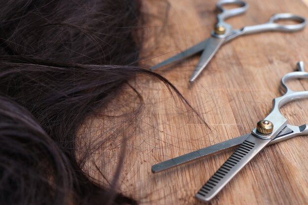
{"type": "Polygon", "coordinates": [[[216,4],[216,7],[221,11],[217,15],[217,24],[215,26],[214,31],[212,31],[212,36],[208,39],[188,48],[187,50],[166,59],[153,67],[150,70],[155,70],[158,67],[167,65],[172,62],[179,61],[181,59],[185,59],[189,56],[192,56],[198,52],[202,52],[200,60],[193,71],[189,82],[194,81],[201,71],[207,66],[210,60],[214,57],[220,46],[224,43],[229,42],[230,40],[246,34],[264,32],[264,31],[297,31],[304,29],[307,24],[307,20],[304,17],[297,16],[290,13],[280,13],[273,15],[269,22],[265,24],[255,25],[255,26],[247,26],[242,29],[232,29],[230,24],[224,22],[225,19],[230,18],[232,16],[237,16],[246,12],[248,8],[248,4],[242,0],[219,0],[216,4]],[[224,9],[223,5],[226,4],[236,4],[240,7],[233,9],[224,9]],[[279,20],[292,20],[298,22],[298,24],[292,25],[283,25],[277,24],[275,22],[279,20]]]}

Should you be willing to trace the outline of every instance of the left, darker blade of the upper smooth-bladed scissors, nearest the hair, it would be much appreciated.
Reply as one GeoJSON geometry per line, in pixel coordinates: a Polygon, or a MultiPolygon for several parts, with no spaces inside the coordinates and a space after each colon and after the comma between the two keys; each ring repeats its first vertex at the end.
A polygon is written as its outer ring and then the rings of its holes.
{"type": "Polygon", "coordinates": [[[162,67],[164,65],[176,62],[176,61],[181,60],[181,59],[185,59],[185,58],[192,56],[192,55],[194,55],[198,52],[201,52],[205,48],[205,46],[207,44],[207,40],[208,39],[188,48],[185,51],[182,51],[181,53],[179,53],[179,54],[177,54],[173,57],[170,57],[169,59],[166,59],[166,60],[154,65],[153,67],[150,68],[150,70],[155,70],[156,68],[159,68],[159,67],[162,67]]]}

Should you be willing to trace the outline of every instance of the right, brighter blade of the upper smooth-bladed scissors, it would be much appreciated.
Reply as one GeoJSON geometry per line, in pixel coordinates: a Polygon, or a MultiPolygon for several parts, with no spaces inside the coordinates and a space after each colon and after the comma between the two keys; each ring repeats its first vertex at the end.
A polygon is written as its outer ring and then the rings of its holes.
{"type": "Polygon", "coordinates": [[[207,66],[207,64],[216,54],[218,48],[221,46],[224,40],[225,40],[224,38],[216,38],[216,37],[210,37],[207,40],[205,50],[203,51],[201,58],[189,79],[189,82],[193,82],[200,75],[201,71],[207,66]]]}

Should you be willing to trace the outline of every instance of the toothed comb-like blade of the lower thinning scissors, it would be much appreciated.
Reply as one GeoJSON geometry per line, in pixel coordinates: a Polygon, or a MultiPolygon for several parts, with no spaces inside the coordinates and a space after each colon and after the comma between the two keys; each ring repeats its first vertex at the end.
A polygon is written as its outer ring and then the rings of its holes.
{"type": "Polygon", "coordinates": [[[203,202],[210,201],[243,167],[267,146],[271,140],[257,138],[249,134],[247,139],[236,149],[227,161],[205,183],[196,194],[203,202]]]}

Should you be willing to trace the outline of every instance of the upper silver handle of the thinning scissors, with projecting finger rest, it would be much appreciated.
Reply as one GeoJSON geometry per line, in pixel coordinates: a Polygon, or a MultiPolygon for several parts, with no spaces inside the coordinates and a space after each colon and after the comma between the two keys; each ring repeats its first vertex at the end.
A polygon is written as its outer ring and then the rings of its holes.
{"type": "MultiPolygon", "coordinates": [[[[304,71],[304,63],[298,62],[297,67],[299,71],[285,74],[281,79],[281,85],[283,88],[284,95],[277,97],[273,100],[272,112],[264,119],[271,121],[274,124],[274,131],[271,135],[265,136],[265,138],[275,137],[275,133],[280,132],[287,123],[287,119],[283,117],[279,109],[288,102],[308,98],[308,91],[295,91],[287,87],[286,82],[291,79],[308,79],[308,72],[304,71]]],[[[253,130],[255,134],[262,138],[262,135],[258,134],[253,130]]]]}

